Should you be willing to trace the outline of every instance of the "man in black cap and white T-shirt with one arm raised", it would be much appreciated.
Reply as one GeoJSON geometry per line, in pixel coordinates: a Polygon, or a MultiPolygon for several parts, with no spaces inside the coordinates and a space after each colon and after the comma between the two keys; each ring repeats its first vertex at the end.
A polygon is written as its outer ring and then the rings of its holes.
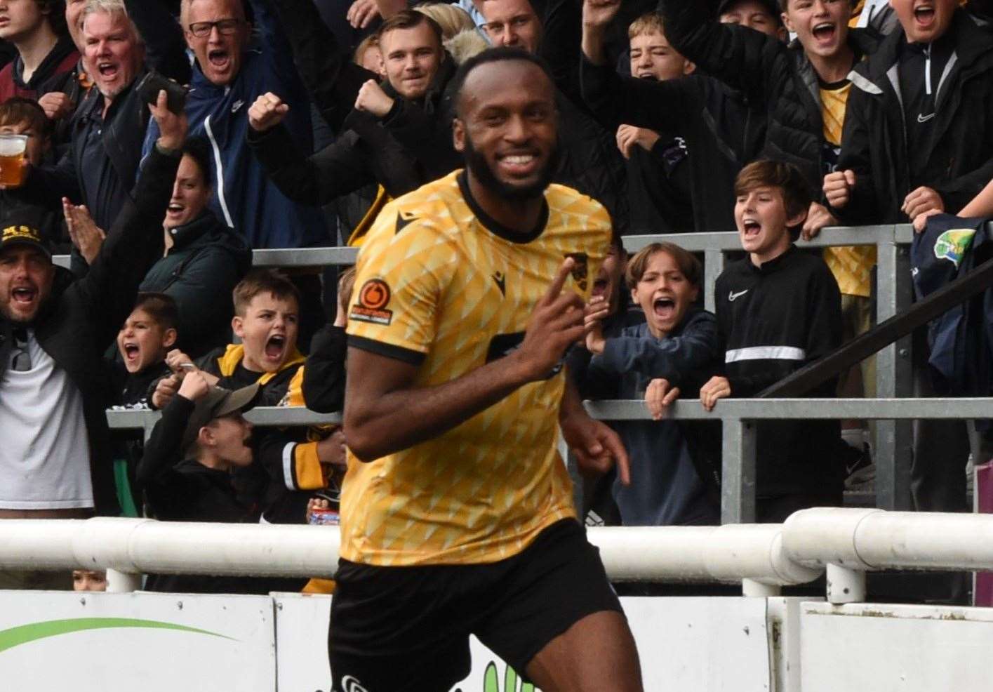
{"type": "MultiPolygon", "coordinates": [[[[0,519],[119,511],[105,415],[103,352],[163,252],[186,118],[160,94],[162,136],[85,277],[52,263],[39,211],[0,220],[0,519]]],[[[0,571],[0,589],[71,589],[69,573],[0,571]]]]}

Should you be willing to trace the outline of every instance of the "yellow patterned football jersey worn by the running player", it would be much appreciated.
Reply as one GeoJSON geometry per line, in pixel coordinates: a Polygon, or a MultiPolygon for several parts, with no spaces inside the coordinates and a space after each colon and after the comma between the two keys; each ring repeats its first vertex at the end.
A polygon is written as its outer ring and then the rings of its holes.
{"type": "MultiPolygon", "coordinates": [[[[611,237],[607,211],[558,185],[527,237],[472,200],[459,171],[390,203],[358,256],[349,345],[452,381],[519,346],[567,256],[565,290],[589,298],[611,237]]],[[[437,438],[363,464],[349,457],[342,549],[370,565],[474,564],[515,555],[575,516],[556,448],[562,368],[437,438]]]]}

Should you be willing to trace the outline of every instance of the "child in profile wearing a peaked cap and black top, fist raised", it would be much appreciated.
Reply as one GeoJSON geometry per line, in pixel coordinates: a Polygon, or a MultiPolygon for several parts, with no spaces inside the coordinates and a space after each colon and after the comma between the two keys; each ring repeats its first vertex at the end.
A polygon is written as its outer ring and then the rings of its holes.
{"type": "MultiPolygon", "coordinates": [[[[137,480],[149,512],[163,521],[255,522],[232,484],[231,471],[252,463],[252,426],[242,412],[261,393],[258,382],[234,391],[188,372],[152,430],[137,480]]],[[[149,575],[148,591],[192,594],[267,593],[261,580],[149,575]]]]}

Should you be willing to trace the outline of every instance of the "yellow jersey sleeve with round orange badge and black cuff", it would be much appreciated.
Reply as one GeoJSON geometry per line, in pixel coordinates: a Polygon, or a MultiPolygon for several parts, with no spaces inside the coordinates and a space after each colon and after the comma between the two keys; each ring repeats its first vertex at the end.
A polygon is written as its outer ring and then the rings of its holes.
{"type": "Polygon", "coordinates": [[[358,256],[349,346],[414,365],[424,360],[454,269],[447,245],[429,219],[392,204],[383,208],[358,256]]]}

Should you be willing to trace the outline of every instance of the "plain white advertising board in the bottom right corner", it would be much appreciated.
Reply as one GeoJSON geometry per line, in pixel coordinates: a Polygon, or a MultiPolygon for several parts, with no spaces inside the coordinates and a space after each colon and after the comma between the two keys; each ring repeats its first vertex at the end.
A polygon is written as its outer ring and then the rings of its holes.
{"type": "Polygon", "coordinates": [[[993,609],[803,604],[803,692],[988,692],[993,609]]]}

